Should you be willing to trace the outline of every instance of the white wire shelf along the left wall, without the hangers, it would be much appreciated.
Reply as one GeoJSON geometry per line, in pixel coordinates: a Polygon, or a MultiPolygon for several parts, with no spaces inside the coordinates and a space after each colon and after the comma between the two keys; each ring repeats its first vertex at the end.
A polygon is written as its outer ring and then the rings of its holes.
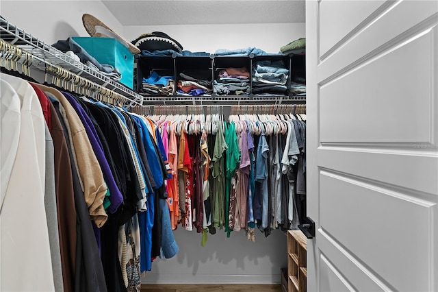
{"type": "Polygon", "coordinates": [[[34,62],[31,64],[32,69],[39,71],[46,71],[46,64],[52,66],[60,66],[67,71],[75,73],[94,84],[98,84],[107,88],[107,90],[114,91],[120,95],[123,95],[129,101],[129,106],[143,104],[143,97],[138,93],[135,93],[130,88],[127,88],[120,82],[116,82],[111,78],[94,71],[86,64],[70,58],[62,51],[55,49],[51,45],[47,45],[42,40],[31,36],[31,34],[25,32],[23,29],[19,29],[15,25],[12,25],[6,21],[3,16],[0,16],[0,38],[5,42],[9,42],[12,45],[27,51],[34,56],[35,60],[43,60],[44,62],[34,62]]]}

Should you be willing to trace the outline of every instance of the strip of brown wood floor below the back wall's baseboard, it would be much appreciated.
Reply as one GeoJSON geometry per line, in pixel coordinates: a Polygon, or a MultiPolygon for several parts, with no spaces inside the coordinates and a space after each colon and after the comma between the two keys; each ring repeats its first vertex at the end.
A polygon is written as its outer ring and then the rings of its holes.
{"type": "Polygon", "coordinates": [[[281,285],[270,284],[142,284],[141,292],[281,292],[281,285]]]}

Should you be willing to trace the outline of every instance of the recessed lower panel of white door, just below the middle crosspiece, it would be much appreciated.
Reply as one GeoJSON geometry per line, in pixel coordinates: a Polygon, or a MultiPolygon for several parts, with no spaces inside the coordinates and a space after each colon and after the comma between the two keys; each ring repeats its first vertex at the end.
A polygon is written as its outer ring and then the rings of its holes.
{"type": "Polygon", "coordinates": [[[428,233],[437,204],[329,171],[320,175],[320,228],[369,267],[372,277],[396,290],[427,291],[433,256],[428,233]],[[342,212],[333,212],[339,205],[342,212]]]}

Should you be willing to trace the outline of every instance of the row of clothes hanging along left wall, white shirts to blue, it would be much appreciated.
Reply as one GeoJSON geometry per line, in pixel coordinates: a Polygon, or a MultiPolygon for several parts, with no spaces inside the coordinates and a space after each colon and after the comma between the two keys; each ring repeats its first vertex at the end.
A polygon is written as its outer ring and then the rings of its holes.
{"type": "Polygon", "coordinates": [[[52,86],[8,74],[0,81],[8,121],[1,129],[1,289],[140,291],[153,258],[179,250],[157,127],[52,86]],[[34,239],[32,255],[17,247],[27,243],[23,236],[34,239]],[[13,273],[20,279],[8,271],[20,271],[13,273]]]}

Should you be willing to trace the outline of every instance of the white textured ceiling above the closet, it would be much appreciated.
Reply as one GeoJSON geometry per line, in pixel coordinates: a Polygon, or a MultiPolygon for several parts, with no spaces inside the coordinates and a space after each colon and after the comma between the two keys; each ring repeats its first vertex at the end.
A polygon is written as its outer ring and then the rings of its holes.
{"type": "Polygon", "coordinates": [[[102,2],[123,26],[305,22],[305,0],[102,2]]]}

